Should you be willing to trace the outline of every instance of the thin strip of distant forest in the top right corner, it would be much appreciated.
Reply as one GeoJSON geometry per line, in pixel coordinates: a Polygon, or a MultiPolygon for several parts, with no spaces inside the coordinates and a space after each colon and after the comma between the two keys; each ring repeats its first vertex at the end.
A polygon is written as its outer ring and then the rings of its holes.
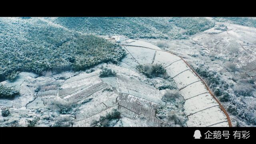
{"type": "Polygon", "coordinates": [[[256,18],[252,17],[214,17],[218,22],[230,22],[233,24],[240,24],[243,26],[251,26],[256,28],[256,18]]]}

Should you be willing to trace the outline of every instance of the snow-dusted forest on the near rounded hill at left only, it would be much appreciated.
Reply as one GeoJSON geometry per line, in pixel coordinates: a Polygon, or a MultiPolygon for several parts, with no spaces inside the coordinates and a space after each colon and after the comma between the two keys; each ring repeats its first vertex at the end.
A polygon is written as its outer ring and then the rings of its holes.
{"type": "Polygon", "coordinates": [[[118,44],[80,34],[40,18],[0,18],[0,81],[17,72],[85,70],[117,63],[125,54],[118,44]]]}

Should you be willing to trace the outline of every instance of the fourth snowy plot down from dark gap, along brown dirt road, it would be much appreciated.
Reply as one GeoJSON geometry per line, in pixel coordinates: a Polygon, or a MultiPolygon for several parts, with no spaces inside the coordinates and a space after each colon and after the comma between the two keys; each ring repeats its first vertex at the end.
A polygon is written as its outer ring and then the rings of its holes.
{"type": "Polygon", "coordinates": [[[194,96],[198,96],[200,94],[207,93],[207,92],[208,90],[206,89],[206,87],[201,81],[190,84],[180,90],[180,94],[183,96],[185,100],[187,100],[188,98],[192,98],[194,96]]]}

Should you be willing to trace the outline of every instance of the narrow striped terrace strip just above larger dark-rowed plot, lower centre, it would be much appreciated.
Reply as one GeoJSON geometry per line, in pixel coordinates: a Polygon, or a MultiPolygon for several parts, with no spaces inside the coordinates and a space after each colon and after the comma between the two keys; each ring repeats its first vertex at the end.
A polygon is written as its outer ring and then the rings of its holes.
{"type": "Polygon", "coordinates": [[[160,104],[155,103],[155,102],[151,102],[142,98],[138,98],[136,96],[132,96],[129,94],[123,94],[123,93],[119,93],[119,100],[124,100],[124,101],[128,101],[128,102],[134,102],[136,104],[140,104],[142,106],[145,106],[147,108],[152,108],[152,109],[158,109],[160,107],[160,104]]]}

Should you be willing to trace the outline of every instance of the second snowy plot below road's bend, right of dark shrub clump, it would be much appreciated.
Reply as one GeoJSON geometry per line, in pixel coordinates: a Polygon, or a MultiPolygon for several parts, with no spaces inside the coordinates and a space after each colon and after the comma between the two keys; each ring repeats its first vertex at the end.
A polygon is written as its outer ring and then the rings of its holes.
{"type": "Polygon", "coordinates": [[[186,70],[190,70],[190,68],[183,60],[173,62],[170,66],[166,67],[166,73],[172,78],[186,70]]]}

